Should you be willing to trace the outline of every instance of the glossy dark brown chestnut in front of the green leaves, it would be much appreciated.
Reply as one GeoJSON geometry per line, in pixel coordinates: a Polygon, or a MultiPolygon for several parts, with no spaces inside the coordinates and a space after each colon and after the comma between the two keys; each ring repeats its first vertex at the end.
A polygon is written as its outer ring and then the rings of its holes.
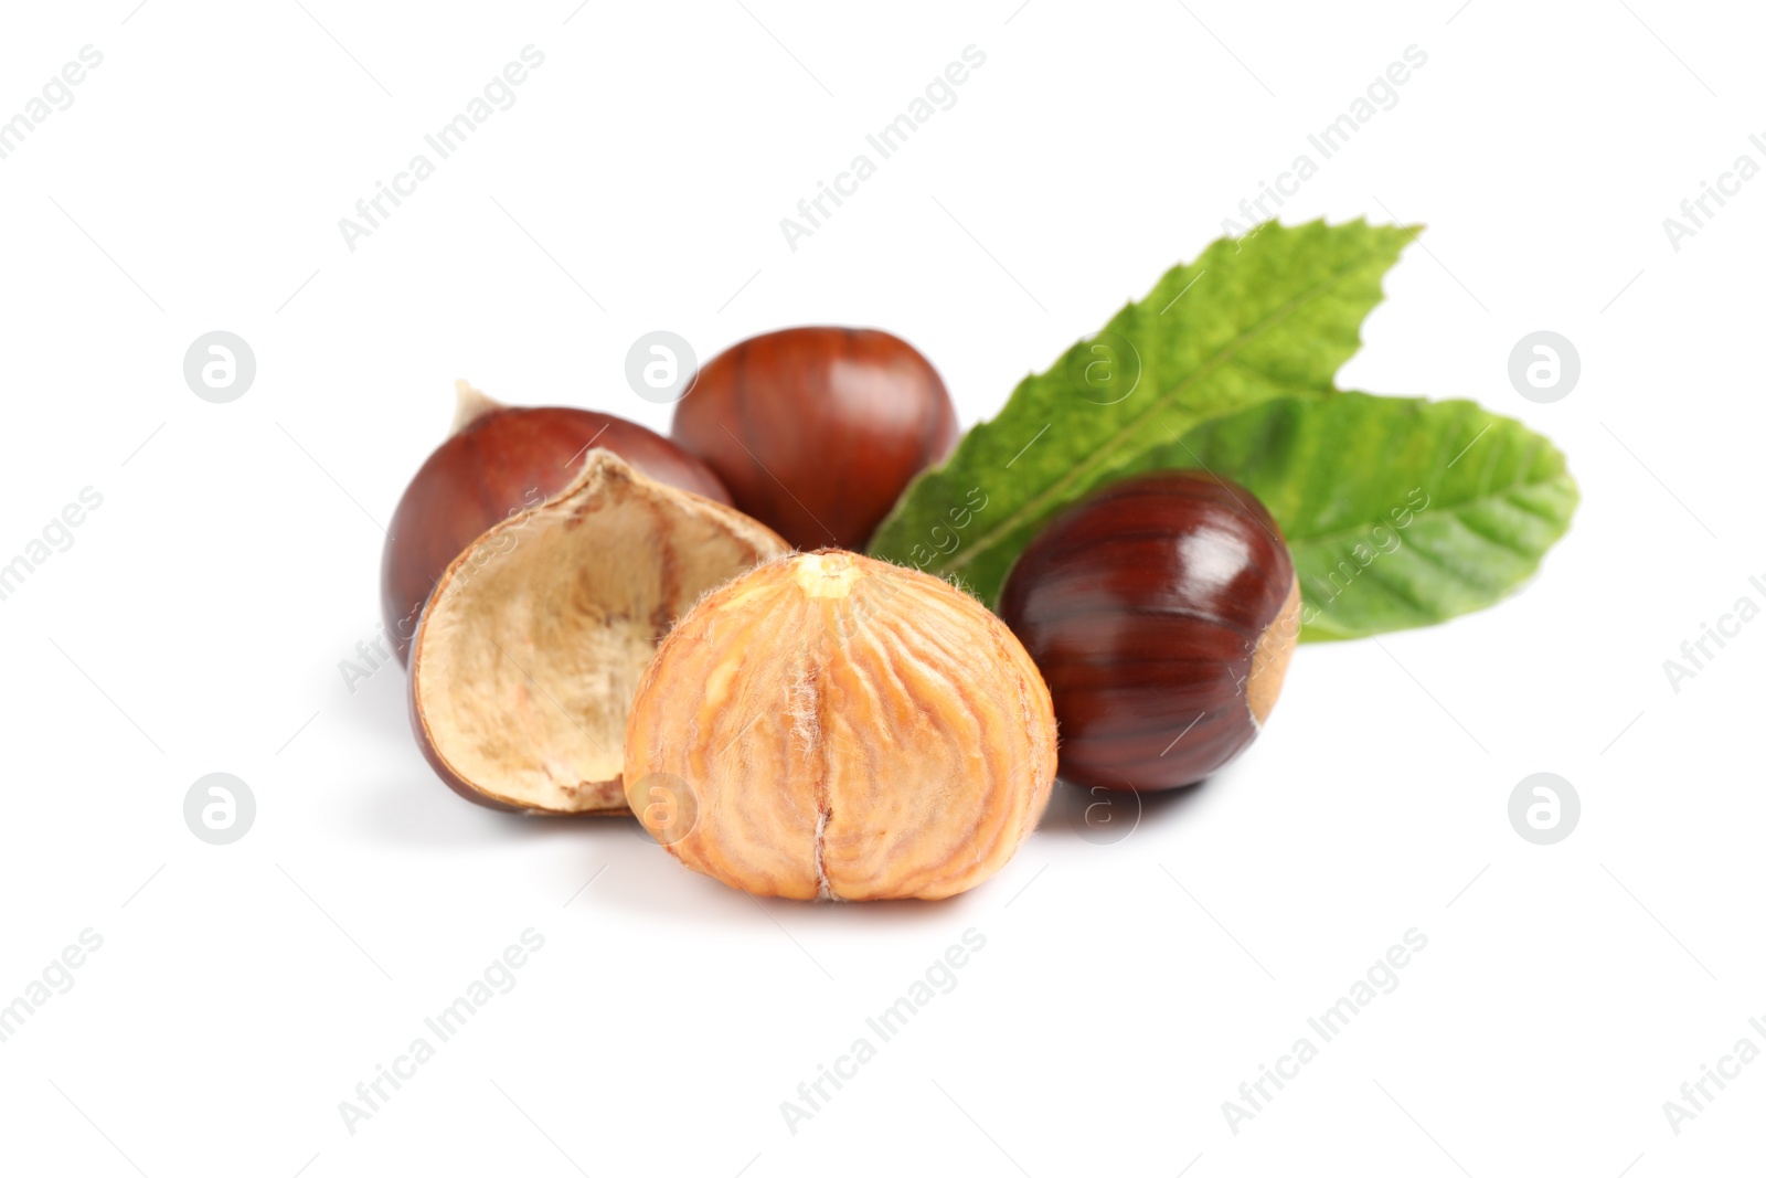
{"type": "Polygon", "coordinates": [[[1164,472],[1056,516],[1007,576],[1000,616],[1049,683],[1061,779],[1171,789],[1257,736],[1300,636],[1300,581],[1250,491],[1164,472]]]}

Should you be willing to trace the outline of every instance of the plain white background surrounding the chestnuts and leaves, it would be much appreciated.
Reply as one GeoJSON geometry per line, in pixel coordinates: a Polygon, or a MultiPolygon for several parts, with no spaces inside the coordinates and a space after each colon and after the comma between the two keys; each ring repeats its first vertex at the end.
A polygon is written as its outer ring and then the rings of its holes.
{"type": "Polygon", "coordinates": [[[0,161],[0,558],[92,486],[0,602],[0,1001],[102,948],[0,1044],[0,1169],[69,1174],[1607,1174],[1759,1159],[1766,1063],[1662,1102],[1766,1016],[1761,659],[1662,661],[1766,574],[1766,178],[1662,219],[1766,132],[1747,5],[7,5],[0,117],[101,67],[0,161]],[[745,5],[745,7],[743,7],[745,5]],[[1014,11],[1015,9],[1015,11],[1014,11]],[[127,18],[127,19],[125,19],[127,18]],[[327,32],[328,30],[328,32],[327,32]],[[337,219],[505,62],[546,64],[373,237],[337,219]],[[779,219],[978,46],[987,62],[812,238],[779,219]],[[941,904],[758,904],[623,821],[449,793],[403,675],[351,694],[381,525],[452,381],[666,427],[625,387],[874,325],[964,424],[1220,235],[1416,44],[1282,210],[1422,221],[1344,387],[1476,397],[1570,457],[1540,578],[1453,623],[1303,646],[1263,740],[1114,846],[1072,791],[941,904]],[[231,404],[182,378],[244,336],[231,404]],[[1505,366],[1549,328],[1581,385],[1505,366]],[[207,846],[191,782],[249,782],[207,846]],[[1558,846],[1515,782],[1575,784],[1558,846]],[[585,888],[585,881],[593,880],[585,888]],[[339,1102],[523,929],[544,950],[371,1120],[339,1102]],[[779,1104],[968,927],[987,938],[793,1136],[779,1104]],[[1406,929],[1429,938],[1256,1120],[1222,1100],[1406,929]],[[1715,1090],[1713,1090],[1715,1091],[1715,1090]],[[304,1169],[302,1169],[304,1167],[304,1169]],[[747,1169],[743,1169],[747,1167],[747,1169]],[[1189,1169],[1185,1169],[1189,1167],[1189,1169]],[[1630,1169],[1626,1169],[1630,1167],[1630,1169]]]}

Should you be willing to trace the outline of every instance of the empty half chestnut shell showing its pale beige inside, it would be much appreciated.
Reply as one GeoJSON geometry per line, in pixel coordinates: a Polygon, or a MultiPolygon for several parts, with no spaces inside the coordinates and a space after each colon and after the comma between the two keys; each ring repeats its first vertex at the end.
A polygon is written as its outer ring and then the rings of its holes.
{"type": "Polygon", "coordinates": [[[461,553],[411,643],[411,728],[463,797],[625,812],[625,717],[655,643],[706,590],[786,551],[733,507],[590,450],[558,496],[461,553]]]}

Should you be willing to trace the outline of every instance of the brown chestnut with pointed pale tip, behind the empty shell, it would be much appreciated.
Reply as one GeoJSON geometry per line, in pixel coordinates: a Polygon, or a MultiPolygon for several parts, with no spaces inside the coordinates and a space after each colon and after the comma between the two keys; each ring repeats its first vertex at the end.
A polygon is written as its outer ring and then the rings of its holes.
{"type": "Polygon", "coordinates": [[[449,562],[491,525],[569,486],[590,445],[652,479],[729,503],[705,463],[636,422],[563,406],[507,406],[466,381],[454,389],[454,431],[399,498],[381,553],[380,611],[399,662],[449,562]]]}

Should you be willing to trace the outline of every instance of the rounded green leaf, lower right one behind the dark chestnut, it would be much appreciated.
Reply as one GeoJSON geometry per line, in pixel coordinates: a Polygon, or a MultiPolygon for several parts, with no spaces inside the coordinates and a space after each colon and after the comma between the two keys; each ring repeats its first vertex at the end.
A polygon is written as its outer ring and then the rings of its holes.
{"type": "Polygon", "coordinates": [[[1211,420],[1157,456],[1250,489],[1300,574],[1303,639],[1483,609],[1570,526],[1563,454],[1471,401],[1339,392],[1211,420]]]}

